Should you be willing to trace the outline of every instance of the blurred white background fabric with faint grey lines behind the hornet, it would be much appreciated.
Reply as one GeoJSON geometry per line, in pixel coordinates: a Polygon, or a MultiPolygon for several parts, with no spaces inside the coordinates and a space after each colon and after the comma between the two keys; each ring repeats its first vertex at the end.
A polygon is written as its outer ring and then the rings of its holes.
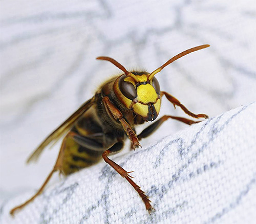
{"type": "MultiPolygon", "coordinates": [[[[251,0],[2,2],[1,200],[38,189],[59,145],[46,149],[37,165],[25,165],[28,155],[102,81],[119,73],[97,56],[113,57],[127,70],[151,72],[208,43],[210,48],[158,74],[161,89],[210,117],[255,101],[255,5],[251,0]]],[[[164,114],[186,117],[165,99],[164,114]]],[[[169,120],[141,143],[185,127],[169,120]]]]}

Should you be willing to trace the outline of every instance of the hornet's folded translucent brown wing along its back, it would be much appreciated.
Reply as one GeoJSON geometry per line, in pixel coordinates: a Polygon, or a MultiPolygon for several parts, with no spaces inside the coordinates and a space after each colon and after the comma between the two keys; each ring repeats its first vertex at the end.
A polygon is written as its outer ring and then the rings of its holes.
{"type": "Polygon", "coordinates": [[[29,156],[27,163],[36,162],[42,150],[52,142],[58,141],[65,133],[67,133],[77,121],[94,103],[94,98],[83,103],[66,121],[59,125],[29,156]]]}

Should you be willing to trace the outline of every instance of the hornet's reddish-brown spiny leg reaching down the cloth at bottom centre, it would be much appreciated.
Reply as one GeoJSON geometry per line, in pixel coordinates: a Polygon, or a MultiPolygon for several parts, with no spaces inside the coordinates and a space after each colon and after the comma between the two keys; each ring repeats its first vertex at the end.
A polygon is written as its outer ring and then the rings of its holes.
{"type": "Polygon", "coordinates": [[[135,184],[135,182],[131,179],[132,176],[129,175],[129,173],[131,172],[127,172],[121,166],[119,166],[114,161],[108,158],[108,155],[111,155],[112,153],[119,151],[122,147],[123,147],[123,142],[117,142],[110,149],[102,153],[102,158],[106,163],[112,166],[114,170],[116,170],[122,177],[124,177],[133,186],[133,188],[139,193],[141,199],[143,200],[146,210],[148,212],[152,212],[154,208],[150,204],[150,199],[148,199],[148,196],[145,194],[145,192],[142,191],[140,187],[137,184],[135,184]]]}

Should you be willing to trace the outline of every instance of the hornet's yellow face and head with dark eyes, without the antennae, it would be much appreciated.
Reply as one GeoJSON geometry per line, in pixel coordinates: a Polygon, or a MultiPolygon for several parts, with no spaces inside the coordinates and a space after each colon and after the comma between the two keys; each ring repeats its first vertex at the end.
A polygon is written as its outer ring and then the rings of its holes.
{"type": "Polygon", "coordinates": [[[114,85],[114,91],[121,103],[142,116],[147,121],[154,121],[160,111],[160,86],[157,79],[148,79],[146,72],[132,72],[136,80],[125,74],[114,85]]]}

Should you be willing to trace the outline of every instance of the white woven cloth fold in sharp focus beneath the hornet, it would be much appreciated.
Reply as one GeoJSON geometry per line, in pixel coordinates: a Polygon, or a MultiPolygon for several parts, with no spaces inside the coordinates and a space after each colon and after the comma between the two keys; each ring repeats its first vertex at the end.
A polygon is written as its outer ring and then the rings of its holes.
{"type": "Polygon", "coordinates": [[[194,124],[115,161],[134,170],[135,182],[156,209],[148,214],[137,192],[100,163],[51,186],[1,223],[255,223],[256,103],[194,124]]]}

